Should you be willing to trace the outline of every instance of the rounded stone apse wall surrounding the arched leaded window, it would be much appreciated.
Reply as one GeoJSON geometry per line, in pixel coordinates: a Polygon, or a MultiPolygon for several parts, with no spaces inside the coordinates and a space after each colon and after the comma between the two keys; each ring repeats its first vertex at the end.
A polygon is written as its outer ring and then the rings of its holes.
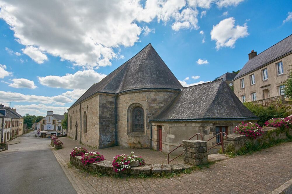
{"type": "Polygon", "coordinates": [[[170,102],[178,91],[175,90],[144,90],[127,92],[118,95],[118,141],[123,147],[150,148],[150,124],[149,120],[170,102]],[[131,111],[128,108],[134,104],[140,104],[145,113],[145,133],[132,133],[130,125],[131,111]]]}

